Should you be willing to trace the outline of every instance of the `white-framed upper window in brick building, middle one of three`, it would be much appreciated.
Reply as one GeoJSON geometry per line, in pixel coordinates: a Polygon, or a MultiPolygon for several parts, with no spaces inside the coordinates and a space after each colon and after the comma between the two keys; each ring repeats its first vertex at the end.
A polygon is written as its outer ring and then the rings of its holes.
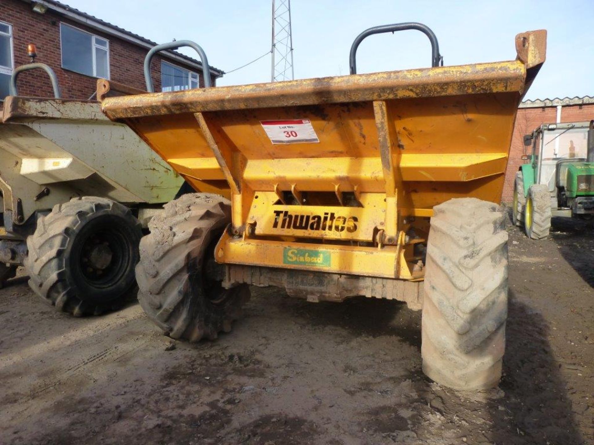
{"type": "Polygon", "coordinates": [[[60,24],[62,68],[87,76],[109,79],[109,41],[60,24]]]}

